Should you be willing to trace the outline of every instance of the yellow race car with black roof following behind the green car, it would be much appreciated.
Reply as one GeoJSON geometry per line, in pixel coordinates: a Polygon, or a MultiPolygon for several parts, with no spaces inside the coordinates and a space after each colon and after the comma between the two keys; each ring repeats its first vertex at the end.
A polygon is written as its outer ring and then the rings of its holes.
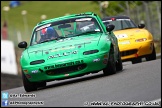
{"type": "Polygon", "coordinates": [[[154,39],[144,24],[138,26],[128,16],[111,16],[102,19],[105,26],[115,25],[114,34],[118,39],[122,61],[132,64],[156,59],[154,39]]]}

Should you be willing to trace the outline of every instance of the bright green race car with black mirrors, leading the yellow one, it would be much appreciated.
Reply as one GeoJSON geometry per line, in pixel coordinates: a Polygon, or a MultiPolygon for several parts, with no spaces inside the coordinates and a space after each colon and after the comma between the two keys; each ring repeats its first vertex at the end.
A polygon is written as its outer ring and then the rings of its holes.
{"type": "Polygon", "coordinates": [[[34,29],[30,45],[25,48],[20,64],[27,92],[46,86],[46,82],[62,80],[103,70],[115,74],[123,65],[118,41],[112,30],[104,26],[93,12],[73,14],[42,21],[34,29]]]}

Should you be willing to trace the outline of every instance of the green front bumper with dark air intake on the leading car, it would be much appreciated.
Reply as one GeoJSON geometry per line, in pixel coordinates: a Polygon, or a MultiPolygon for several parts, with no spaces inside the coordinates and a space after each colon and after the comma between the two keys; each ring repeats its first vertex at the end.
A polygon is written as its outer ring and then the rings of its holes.
{"type": "Polygon", "coordinates": [[[104,53],[88,57],[85,56],[77,60],[64,61],[57,63],[60,64],[57,66],[55,64],[49,64],[23,68],[23,70],[26,70],[24,73],[31,82],[51,81],[100,71],[106,67],[107,60],[108,53],[104,53]],[[80,63],[75,64],[76,61],[80,61],[80,63]]]}

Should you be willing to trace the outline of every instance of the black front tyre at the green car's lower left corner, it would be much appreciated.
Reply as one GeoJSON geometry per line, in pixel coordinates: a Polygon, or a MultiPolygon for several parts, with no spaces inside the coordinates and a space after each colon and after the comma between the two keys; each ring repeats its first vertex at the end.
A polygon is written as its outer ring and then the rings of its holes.
{"type": "Polygon", "coordinates": [[[36,83],[30,82],[22,72],[23,85],[26,92],[37,90],[36,83]]]}

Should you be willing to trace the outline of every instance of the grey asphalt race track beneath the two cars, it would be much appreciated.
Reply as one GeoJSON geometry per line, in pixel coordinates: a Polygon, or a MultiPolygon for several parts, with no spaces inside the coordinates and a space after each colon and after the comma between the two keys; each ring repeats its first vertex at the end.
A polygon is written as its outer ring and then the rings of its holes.
{"type": "Polygon", "coordinates": [[[25,92],[23,87],[1,92],[8,92],[9,103],[17,104],[9,106],[14,107],[122,107],[128,103],[132,106],[161,106],[161,58],[123,65],[123,71],[114,75],[103,76],[101,71],[49,82],[46,88],[34,92],[25,92]],[[34,97],[25,98],[24,94],[34,97]],[[41,105],[31,105],[32,102],[41,105]],[[18,105],[20,103],[23,104],[18,105]]]}

